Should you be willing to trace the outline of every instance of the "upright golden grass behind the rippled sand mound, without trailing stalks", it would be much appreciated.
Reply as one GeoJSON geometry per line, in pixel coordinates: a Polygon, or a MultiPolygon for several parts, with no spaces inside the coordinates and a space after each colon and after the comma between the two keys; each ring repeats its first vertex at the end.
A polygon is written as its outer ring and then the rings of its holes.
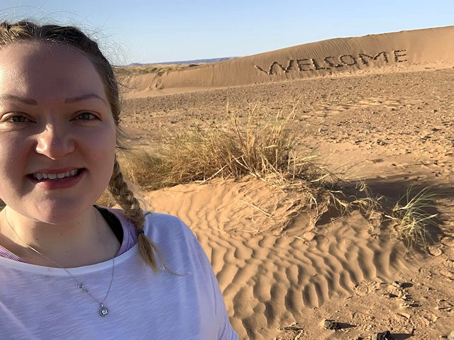
{"type": "Polygon", "coordinates": [[[299,186],[294,181],[301,179],[314,186],[338,181],[335,174],[313,162],[315,154],[297,155],[297,132],[289,129],[293,113],[260,116],[255,110],[244,124],[233,115],[226,127],[194,128],[172,135],[153,156],[128,151],[120,159],[124,172],[147,189],[215,177],[254,176],[282,188],[299,186]]]}

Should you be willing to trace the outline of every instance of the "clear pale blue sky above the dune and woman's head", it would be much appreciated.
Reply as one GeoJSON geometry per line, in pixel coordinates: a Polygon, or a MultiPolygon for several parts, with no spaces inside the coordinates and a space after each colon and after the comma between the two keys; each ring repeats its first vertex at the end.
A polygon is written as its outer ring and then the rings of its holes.
{"type": "Polygon", "coordinates": [[[0,19],[72,24],[116,64],[240,57],[330,38],[454,25],[452,0],[1,0],[0,19]]]}

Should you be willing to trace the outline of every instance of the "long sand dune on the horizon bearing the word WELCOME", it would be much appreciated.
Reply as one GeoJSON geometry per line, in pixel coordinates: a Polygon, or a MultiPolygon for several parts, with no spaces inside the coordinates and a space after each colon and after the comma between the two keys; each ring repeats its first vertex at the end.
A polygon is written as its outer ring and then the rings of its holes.
{"type": "Polygon", "coordinates": [[[164,73],[134,75],[128,84],[138,98],[156,92],[208,89],[332,74],[402,69],[437,64],[453,67],[454,26],[337,38],[202,64],[164,73]]]}

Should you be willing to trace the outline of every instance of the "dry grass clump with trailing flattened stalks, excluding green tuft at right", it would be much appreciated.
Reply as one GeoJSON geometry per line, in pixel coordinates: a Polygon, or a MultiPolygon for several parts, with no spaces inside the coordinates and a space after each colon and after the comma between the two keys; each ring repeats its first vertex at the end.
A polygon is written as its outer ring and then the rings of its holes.
{"type": "Polygon", "coordinates": [[[315,227],[326,213],[333,215],[331,210],[338,215],[357,208],[366,213],[377,205],[364,185],[353,188],[364,197],[348,193],[338,174],[316,162],[315,150],[299,154],[299,132],[292,125],[294,111],[263,114],[256,105],[245,118],[230,114],[228,121],[214,128],[194,128],[172,135],[153,156],[136,150],[123,154],[119,161],[126,178],[145,190],[215,178],[252,176],[265,181],[285,193],[279,196],[284,197],[284,204],[277,202],[271,208],[248,204],[272,216],[280,230],[304,210],[315,212],[315,227]]]}

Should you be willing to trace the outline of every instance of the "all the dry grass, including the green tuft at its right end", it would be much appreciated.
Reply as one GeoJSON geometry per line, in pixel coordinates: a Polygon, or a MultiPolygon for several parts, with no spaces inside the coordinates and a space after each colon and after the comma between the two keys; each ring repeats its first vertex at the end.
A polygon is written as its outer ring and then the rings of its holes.
{"type": "Polygon", "coordinates": [[[248,205],[275,222],[273,234],[284,234],[303,212],[311,213],[316,229],[356,210],[372,234],[379,234],[383,221],[390,219],[399,239],[412,246],[425,244],[425,226],[435,217],[427,213],[433,198],[428,190],[415,194],[409,189],[389,209],[366,183],[343,181],[343,174],[316,162],[316,150],[299,154],[299,135],[292,125],[294,111],[262,114],[255,106],[246,117],[230,115],[215,127],[171,135],[153,155],[140,149],[123,153],[119,162],[128,181],[143,191],[216,178],[265,181],[277,191],[275,206],[253,200],[248,205]]]}

